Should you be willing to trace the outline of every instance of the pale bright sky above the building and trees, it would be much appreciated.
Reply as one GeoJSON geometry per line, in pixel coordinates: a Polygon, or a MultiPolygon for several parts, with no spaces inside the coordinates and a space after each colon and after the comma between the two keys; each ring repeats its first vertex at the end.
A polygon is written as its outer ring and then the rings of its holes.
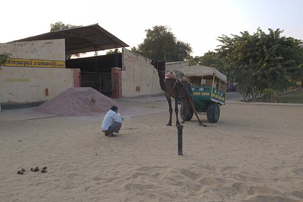
{"type": "Polygon", "coordinates": [[[303,0],[153,0],[153,1],[2,1],[0,43],[46,33],[50,24],[98,23],[119,39],[137,46],[145,30],[171,28],[178,40],[189,43],[192,56],[203,56],[220,44],[218,36],[254,33],[258,27],[284,30],[303,39],[303,0]]]}

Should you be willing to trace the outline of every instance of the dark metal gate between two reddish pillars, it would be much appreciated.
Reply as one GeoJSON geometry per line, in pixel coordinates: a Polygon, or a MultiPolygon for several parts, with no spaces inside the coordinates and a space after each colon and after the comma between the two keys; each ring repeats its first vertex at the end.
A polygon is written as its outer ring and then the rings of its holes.
{"type": "Polygon", "coordinates": [[[81,72],[81,87],[92,87],[100,93],[112,97],[112,73],[81,72]]]}

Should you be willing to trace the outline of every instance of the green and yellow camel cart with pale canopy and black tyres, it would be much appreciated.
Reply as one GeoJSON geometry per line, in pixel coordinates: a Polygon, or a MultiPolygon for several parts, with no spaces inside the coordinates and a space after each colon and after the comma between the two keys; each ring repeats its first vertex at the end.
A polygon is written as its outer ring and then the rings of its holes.
{"type": "MultiPolygon", "coordinates": [[[[226,101],[226,76],[213,67],[201,65],[181,68],[180,71],[192,82],[191,91],[186,91],[192,98],[197,113],[206,114],[209,122],[216,123],[220,117],[219,107],[225,105],[226,101]]],[[[186,108],[182,99],[178,101],[181,105],[181,118],[184,119],[186,108]]],[[[186,121],[191,120],[192,116],[193,109],[190,106],[186,121]]]]}

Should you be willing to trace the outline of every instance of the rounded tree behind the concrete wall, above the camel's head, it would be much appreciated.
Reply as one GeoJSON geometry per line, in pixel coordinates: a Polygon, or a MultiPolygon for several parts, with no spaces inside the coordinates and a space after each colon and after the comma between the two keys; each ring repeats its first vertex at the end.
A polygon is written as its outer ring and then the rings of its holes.
{"type": "Polygon", "coordinates": [[[190,57],[192,48],[189,43],[177,40],[167,26],[154,26],[145,30],[146,37],[138,47],[131,50],[144,57],[167,62],[183,61],[190,57]]]}

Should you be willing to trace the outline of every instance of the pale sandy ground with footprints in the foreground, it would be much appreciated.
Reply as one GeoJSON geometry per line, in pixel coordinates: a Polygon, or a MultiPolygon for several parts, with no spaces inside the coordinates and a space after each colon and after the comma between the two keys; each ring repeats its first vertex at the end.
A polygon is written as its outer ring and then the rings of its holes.
{"type": "Polygon", "coordinates": [[[0,201],[303,201],[302,117],[228,104],[216,124],[184,124],[183,156],[168,112],[130,118],[118,137],[96,117],[1,121],[0,201]]]}

